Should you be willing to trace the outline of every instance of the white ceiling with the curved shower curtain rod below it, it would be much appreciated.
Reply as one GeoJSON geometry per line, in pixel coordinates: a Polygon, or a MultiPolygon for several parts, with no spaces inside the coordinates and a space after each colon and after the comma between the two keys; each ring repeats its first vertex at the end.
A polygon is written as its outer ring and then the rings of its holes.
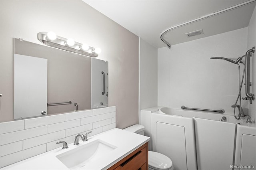
{"type": "MultiPolygon", "coordinates": [[[[108,18],[114,20],[130,32],[141,37],[154,47],[165,47],[166,44],[160,40],[161,33],[178,24],[200,18],[210,13],[214,13],[225,8],[246,2],[248,0],[83,0],[108,18]]],[[[255,3],[252,4],[255,6],[255,3]]],[[[252,11],[246,16],[252,15],[252,11]]],[[[238,10],[237,15],[242,15],[245,11],[238,10]]],[[[221,17],[219,17],[221,18],[221,17]]],[[[248,18],[248,17],[247,17],[248,18]]],[[[250,20],[250,19],[249,19],[250,20]]],[[[241,21],[241,20],[240,20],[241,21]]],[[[236,21],[236,23],[240,22],[236,21]]],[[[225,22],[224,22],[225,23],[225,22]]],[[[208,22],[209,24],[209,22],[208,22]]],[[[211,24],[211,22],[210,22],[211,24]]],[[[222,22],[223,24],[223,22],[222,22]]],[[[248,26],[248,19],[240,27],[248,26]]],[[[229,26],[218,25],[217,28],[224,28],[217,33],[229,31],[229,26]]],[[[194,30],[187,31],[192,32],[194,30]]],[[[206,29],[210,31],[216,30],[216,26],[208,26],[206,29]]],[[[232,26],[233,28],[233,26],[232,26]]],[[[200,28],[201,29],[201,28],[200,28]]],[[[234,29],[238,29],[235,28],[234,29]]],[[[234,30],[233,29],[233,30],[234,30]]],[[[204,30],[207,32],[207,30],[204,30]]],[[[212,35],[214,35],[212,34],[212,35]]],[[[182,34],[183,36],[183,34],[182,34]]],[[[210,36],[205,35],[205,36],[210,36]]],[[[179,37],[172,39],[171,44],[186,42],[192,39],[184,39],[181,41],[179,37]]],[[[197,39],[197,38],[195,38],[197,39]]]]}

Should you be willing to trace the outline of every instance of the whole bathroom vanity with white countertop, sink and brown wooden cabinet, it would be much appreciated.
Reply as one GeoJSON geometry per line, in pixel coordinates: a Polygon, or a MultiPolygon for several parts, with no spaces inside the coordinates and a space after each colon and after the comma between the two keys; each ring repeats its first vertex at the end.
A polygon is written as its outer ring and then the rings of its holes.
{"type": "Polygon", "coordinates": [[[80,140],[78,145],[71,143],[67,149],[57,148],[2,169],[146,169],[149,140],[147,136],[114,128],[89,137],[86,142],[80,140]]]}

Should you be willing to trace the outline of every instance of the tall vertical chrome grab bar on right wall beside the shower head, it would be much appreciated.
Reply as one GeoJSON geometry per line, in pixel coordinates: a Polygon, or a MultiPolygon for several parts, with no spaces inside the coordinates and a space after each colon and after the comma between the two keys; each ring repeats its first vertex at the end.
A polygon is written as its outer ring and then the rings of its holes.
{"type": "Polygon", "coordinates": [[[248,51],[246,51],[246,54],[245,54],[246,56],[245,57],[245,63],[246,63],[245,94],[249,98],[250,103],[251,103],[251,100],[254,100],[254,95],[250,94],[250,53],[251,52],[254,53],[254,49],[255,47],[252,47],[252,49],[249,49],[248,51]]]}

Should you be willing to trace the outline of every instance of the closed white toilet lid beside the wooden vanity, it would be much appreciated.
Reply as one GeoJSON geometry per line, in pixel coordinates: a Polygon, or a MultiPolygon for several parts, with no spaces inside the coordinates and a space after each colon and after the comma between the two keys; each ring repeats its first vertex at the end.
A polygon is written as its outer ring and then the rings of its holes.
{"type": "Polygon", "coordinates": [[[172,167],[172,160],[158,152],[148,151],[148,166],[155,170],[168,170],[172,167]]]}

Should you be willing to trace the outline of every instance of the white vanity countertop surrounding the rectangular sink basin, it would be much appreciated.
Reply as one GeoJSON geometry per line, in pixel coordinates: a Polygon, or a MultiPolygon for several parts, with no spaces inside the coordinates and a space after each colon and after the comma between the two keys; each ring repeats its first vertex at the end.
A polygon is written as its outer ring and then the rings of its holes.
{"type": "MultiPolygon", "coordinates": [[[[110,168],[116,162],[132,153],[138,147],[142,146],[146,142],[150,140],[149,137],[143,136],[140,134],[135,134],[132,132],[128,132],[126,130],[122,130],[119,128],[114,128],[108,130],[106,132],[102,132],[95,136],[91,136],[88,138],[88,141],[83,142],[80,140],[79,145],[74,145],[73,143],[68,144],[68,149],[62,149],[62,147],[51,150],[49,152],[45,152],[38,156],[34,156],[32,158],[28,158],[26,160],[22,160],[15,164],[11,164],[1,169],[8,170],[68,170],[68,168],[58,159],[56,155],[62,154],[74,148],[83,146],[94,140],[103,140],[116,146],[114,150],[111,152],[104,154],[100,159],[88,162],[82,169],[90,169],[90,170],[101,170],[110,168]]],[[[86,153],[85,153],[86,154],[86,153]]]]}

